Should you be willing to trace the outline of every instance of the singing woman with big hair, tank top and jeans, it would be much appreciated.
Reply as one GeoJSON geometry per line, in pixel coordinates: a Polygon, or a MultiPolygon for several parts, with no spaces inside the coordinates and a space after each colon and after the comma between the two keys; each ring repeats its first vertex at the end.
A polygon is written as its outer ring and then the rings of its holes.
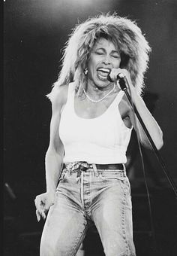
{"type": "Polygon", "coordinates": [[[75,255],[90,221],[107,256],[135,255],[130,183],[124,163],[132,127],[151,148],[116,77],[124,75],[154,144],[162,132],[142,98],[150,47],[136,23],[114,15],[86,20],[65,47],[52,102],[46,193],[35,199],[46,218],[40,255],[75,255]]]}

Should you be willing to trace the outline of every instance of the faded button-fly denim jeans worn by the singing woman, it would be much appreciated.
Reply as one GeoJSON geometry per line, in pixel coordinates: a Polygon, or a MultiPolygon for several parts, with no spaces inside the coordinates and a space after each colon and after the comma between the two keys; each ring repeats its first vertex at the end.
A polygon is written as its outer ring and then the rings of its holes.
{"type": "Polygon", "coordinates": [[[76,255],[89,222],[107,256],[134,256],[130,183],[125,169],[63,169],[40,242],[40,256],[76,255]]]}

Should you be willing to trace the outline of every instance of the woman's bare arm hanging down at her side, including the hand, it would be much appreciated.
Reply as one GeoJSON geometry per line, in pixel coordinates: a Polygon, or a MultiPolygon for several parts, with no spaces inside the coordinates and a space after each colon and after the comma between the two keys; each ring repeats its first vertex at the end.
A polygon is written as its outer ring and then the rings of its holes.
{"type": "Polygon", "coordinates": [[[58,178],[62,171],[62,161],[64,147],[59,138],[58,128],[61,117],[62,106],[65,105],[68,94],[68,87],[63,86],[58,89],[55,99],[52,100],[52,118],[50,122],[49,148],[46,151],[46,192],[40,194],[35,199],[37,220],[40,221],[40,215],[46,218],[46,212],[49,207],[55,203],[55,189],[58,184],[58,178]]]}

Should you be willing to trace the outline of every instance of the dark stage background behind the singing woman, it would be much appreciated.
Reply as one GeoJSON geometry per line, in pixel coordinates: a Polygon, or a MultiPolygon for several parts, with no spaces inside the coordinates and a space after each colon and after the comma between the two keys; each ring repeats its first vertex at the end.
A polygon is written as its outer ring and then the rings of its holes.
{"type": "MultiPolygon", "coordinates": [[[[108,11],[136,20],[152,47],[145,75],[144,99],[163,130],[164,145],[160,154],[175,183],[177,181],[177,2],[6,0],[3,184],[6,256],[39,255],[43,221],[36,221],[34,198],[43,193],[46,186],[44,157],[49,144],[51,105],[45,95],[57,79],[61,50],[75,24],[108,11]]],[[[132,185],[137,255],[175,256],[177,215],[174,193],[154,154],[144,151],[157,242],[157,251],[154,251],[142,165],[133,139],[131,145],[133,154],[130,155],[128,175],[132,185]]],[[[86,236],[85,248],[86,255],[102,255],[94,229],[86,236]],[[92,252],[89,254],[89,251],[92,252]]]]}

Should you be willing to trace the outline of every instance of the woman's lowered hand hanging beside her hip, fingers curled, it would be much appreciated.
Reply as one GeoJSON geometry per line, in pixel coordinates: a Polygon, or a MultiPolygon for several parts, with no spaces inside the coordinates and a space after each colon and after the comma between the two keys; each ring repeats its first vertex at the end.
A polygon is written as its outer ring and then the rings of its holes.
{"type": "Polygon", "coordinates": [[[46,218],[46,212],[48,212],[50,206],[52,206],[54,202],[55,193],[51,192],[40,194],[35,198],[34,203],[36,206],[37,221],[40,221],[40,215],[42,216],[43,220],[46,218]]]}

